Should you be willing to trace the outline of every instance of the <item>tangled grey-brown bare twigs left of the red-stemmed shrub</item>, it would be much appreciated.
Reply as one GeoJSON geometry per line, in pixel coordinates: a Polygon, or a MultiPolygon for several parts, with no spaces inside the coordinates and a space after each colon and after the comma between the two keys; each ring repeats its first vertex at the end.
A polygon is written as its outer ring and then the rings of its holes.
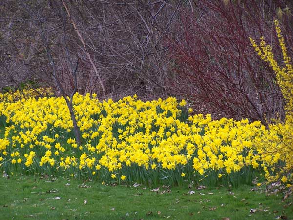
{"type": "MultiPolygon", "coordinates": [[[[79,93],[122,97],[169,95],[169,45],[165,36],[178,35],[174,23],[179,12],[190,7],[181,1],[57,1],[34,0],[1,3],[2,48],[10,53],[5,65],[16,72],[16,86],[27,79],[51,84],[50,61],[40,28],[23,7],[40,13],[42,28],[54,57],[59,80],[66,93],[74,88],[63,42],[62,11],[66,13],[66,40],[70,54],[78,57],[79,93]],[[62,10],[60,10],[62,9],[62,10]],[[21,58],[19,58],[21,57],[21,58]]],[[[2,72],[2,71],[1,71],[2,72]]],[[[4,71],[3,74],[6,74],[4,71]]],[[[9,79],[9,78],[7,78],[9,79]]],[[[54,85],[53,85],[54,86],[54,85]]]]}

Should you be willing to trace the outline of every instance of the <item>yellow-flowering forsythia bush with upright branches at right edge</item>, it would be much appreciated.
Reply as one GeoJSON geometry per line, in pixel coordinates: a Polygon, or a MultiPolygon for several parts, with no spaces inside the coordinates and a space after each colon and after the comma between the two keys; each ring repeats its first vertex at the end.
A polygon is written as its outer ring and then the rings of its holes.
{"type": "Polygon", "coordinates": [[[281,178],[283,182],[286,182],[288,179],[293,180],[293,66],[291,58],[287,55],[287,48],[279,22],[275,20],[274,24],[282,49],[284,67],[281,67],[275,60],[272,47],[266,45],[263,37],[260,45],[256,44],[253,39],[250,40],[258,55],[272,67],[276,74],[277,83],[286,100],[285,122],[269,126],[270,133],[267,135],[267,143],[263,146],[264,155],[278,154],[282,161],[276,166],[270,166],[272,172],[267,171],[267,178],[272,181],[281,178]]]}

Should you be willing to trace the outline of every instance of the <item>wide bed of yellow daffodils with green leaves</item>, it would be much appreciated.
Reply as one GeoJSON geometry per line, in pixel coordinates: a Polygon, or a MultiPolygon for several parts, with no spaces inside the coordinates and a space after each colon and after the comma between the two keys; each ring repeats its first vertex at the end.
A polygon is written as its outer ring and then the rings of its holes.
{"type": "Polygon", "coordinates": [[[63,98],[0,98],[0,169],[7,173],[146,184],[250,183],[255,172],[288,185],[292,178],[278,172],[292,160],[280,135],[293,132],[285,124],[190,116],[186,102],[172,97],[114,102],[76,94],[79,146],[63,98]]]}

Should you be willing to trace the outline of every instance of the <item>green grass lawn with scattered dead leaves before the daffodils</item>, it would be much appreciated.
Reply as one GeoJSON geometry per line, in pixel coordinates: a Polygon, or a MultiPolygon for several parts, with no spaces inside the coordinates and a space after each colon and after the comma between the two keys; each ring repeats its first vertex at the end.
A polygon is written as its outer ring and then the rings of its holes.
{"type": "Polygon", "coordinates": [[[0,176],[1,220],[273,220],[293,219],[292,196],[237,189],[105,186],[57,178],[0,176]],[[70,185],[69,185],[70,184],[70,185]],[[85,187],[84,187],[85,186],[85,187]],[[188,192],[194,191],[190,195],[188,192]],[[54,199],[55,198],[55,199],[54,199]],[[60,198],[60,199],[56,199],[60,198]],[[289,204],[289,205],[288,205],[289,204]],[[251,212],[254,209],[255,213],[251,212]],[[281,216],[281,217],[280,217],[281,216]]]}

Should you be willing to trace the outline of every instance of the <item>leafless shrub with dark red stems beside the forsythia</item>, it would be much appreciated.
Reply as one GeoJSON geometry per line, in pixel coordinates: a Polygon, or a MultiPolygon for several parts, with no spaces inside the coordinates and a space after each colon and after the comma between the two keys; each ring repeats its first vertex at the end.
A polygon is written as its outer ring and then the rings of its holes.
{"type": "MultiPolygon", "coordinates": [[[[201,0],[196,6],[195,12],[183,14],[184,37],[173,48],[174,69],[179,73],[174,85],[177,90],[222,115],[264,123],[284,118],[284,99],[276,76],[269,64],[256,56],[249,37],[270,39],[276,54],[281,55],[273,20],[282,20],[286,41],[292,45],[290,2],[201,0]]],[[[292,48],[288,53],[293,55],[292,48]]]]}

